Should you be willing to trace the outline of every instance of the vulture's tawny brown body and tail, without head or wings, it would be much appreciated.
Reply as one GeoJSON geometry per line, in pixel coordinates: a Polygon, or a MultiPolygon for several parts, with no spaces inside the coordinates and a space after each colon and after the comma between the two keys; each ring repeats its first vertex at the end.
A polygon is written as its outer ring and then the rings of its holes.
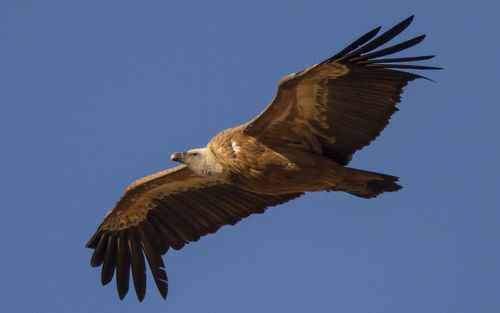
{"type": "MultiPolygon", "coordinates": [[[[220,132],[207,145],[224,169],[213,178],[269,195],[342,190],[370,198],[401,188],[396,177],[346,168],[322,154],[287,144],[269,147],[245,135],[241,125],[220,132]],[[373,186],[383,185],[383,188],[373,186]]],[[[284,142],[284,141],[279,141],[284,142]]]]}

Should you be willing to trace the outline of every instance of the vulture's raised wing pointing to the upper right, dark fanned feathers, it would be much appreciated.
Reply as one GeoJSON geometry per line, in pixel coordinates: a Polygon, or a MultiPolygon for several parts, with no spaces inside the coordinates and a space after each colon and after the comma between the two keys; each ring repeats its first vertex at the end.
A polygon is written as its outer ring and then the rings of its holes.
{"type": "Polygon", "coordinates": [[[331,58],[282,78],[271,104],[247,124],[244,133],[271,146],[288,145],[349,163],[353,153],[389,123],[402,88],[422,77],[396,69],[439,69],[406,63],[431,55],[380,58],[418,44],[425,35],[374,51],[412,20],[413,16],[371,40],[380,30],[377,27],[331,58]]]}

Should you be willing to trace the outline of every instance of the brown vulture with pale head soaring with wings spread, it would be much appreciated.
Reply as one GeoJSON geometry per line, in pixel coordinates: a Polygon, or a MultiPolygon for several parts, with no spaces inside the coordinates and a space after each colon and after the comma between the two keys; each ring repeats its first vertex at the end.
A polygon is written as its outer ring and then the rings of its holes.
{"type": "Polygon", "coordinates": [[[133,182],[86,247],[101,282],[115,276],[120,299],[132,273],[139,301],[146,294],[146,264],[161,296],[168,291],[162,255],[234,225],[306,192],[344,191],[373,198],[401,189],[391,175],[346,167],[397,111],[403,87],[425,78],[412,70],[438,67],[409,62],[433,55],[389,57],[425,35],[380,48],[413,16],[376,36],[361,36],[334,56],[283,77],[271,103],[250,122],[224,130],[204,148],[175,152],[181,165],[133,182]],[[145,258],[144,258],[145,256],[145,258]]]}

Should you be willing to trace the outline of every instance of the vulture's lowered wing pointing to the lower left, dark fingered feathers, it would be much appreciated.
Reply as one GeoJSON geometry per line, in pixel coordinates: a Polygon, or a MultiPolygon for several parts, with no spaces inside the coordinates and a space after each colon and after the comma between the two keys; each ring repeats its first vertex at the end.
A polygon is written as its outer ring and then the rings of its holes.
{"type": "Polygon", "coordinates": [[[132,269],[135,291],[142,301],[146,255],[156,286],[166,298],[168,282],[161,255],[170,247],[181,249],[221,226],[300,195],[260,195],[197,176],[184,165],[168,169],[127,188],[86,245],[94,249],[90,264],[102,265],[103,285],[116,273],[120,299],[128,291],[132,269]]]}

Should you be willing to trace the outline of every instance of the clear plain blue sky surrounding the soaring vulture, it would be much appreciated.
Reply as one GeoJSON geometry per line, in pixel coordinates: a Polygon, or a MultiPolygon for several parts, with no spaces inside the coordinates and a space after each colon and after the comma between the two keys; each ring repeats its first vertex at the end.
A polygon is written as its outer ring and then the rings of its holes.
{"type": "Polygon", "coordinates": [[[2,1],[1,312],[498,312],[498,1],[2,1]],[[175,3],[175,4],[174,4],[175,3]],[[278,80],[372,28],[436,81],[351,166],[375,200],[309,194],[169,251],[163,301],[100,286],[84,244],[133,180],[257,115],[278,80]]]}

